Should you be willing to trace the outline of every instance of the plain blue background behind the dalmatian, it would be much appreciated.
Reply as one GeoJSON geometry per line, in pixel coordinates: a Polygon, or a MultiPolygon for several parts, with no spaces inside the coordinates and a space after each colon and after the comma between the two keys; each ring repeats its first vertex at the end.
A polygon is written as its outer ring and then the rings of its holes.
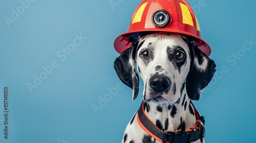
{"type": "MultiPolygon", "coordinates": [[[[0,1],[0,142],[121,142],[142,99],[132,101],[132,90],[120,84],[113,41],[126,32],[141,1],[118,1],[115,7],[109,2],[35,1],[8,27],[4,17],[11,18],[11,9],[17,11],[21,3],[0,1]],[[58,51],[73,43],[75,34],[87,39],[61,61],[58,51]],[[54,60],[58,67],[30,92],[27,83],[54,60]],[[9,139],[3,134],[5,86],[9,139]],[[92,106],[111,93],[108,88],[117,87],[116,96],[94,112],[92,106]]],[[[194,102],[206,118],[205,140],[255,142],[256,44],[249,51],[243,45],[246,39],[256,41],[256,2],[204,0],[203,7],[199,0],[187,2],[219,73],[194,102]],[[240,57],[233,58],[238,52],[240,57]]]]}

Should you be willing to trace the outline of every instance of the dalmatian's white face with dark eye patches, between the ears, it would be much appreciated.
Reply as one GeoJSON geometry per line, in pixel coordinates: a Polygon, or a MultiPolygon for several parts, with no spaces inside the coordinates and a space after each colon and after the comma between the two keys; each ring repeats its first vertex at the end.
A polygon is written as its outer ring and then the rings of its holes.
{"type": "Polygon", "coordinates": [[[176,34],[144,36],[138,43],[136,59],[137,71],[144,82],[143,99],[176,103],[191,59],[182,37],[176,34]]]}

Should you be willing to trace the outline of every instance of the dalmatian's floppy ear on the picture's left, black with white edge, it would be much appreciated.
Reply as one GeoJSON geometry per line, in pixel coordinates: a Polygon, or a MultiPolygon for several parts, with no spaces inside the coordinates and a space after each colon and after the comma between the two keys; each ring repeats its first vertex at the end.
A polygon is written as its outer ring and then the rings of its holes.
{"type": "Polygon", "coordinates": [[[114,68],[119,79],[133,89],[132,100],[137,98],[139,92],[139,77],[135,67],[137,46],[138,42],[133,43],[114,62],[114,68]]]}

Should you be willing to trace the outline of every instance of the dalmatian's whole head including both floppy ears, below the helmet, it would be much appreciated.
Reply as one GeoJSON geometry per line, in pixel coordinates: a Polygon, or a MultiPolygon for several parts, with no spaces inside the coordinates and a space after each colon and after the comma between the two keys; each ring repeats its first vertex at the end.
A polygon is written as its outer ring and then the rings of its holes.
{"type": "Polygon", "coordinates": [[[121,53],[114,68],[121,81],[133,89],[133,100],[138,96],[138,73],[146,102],[177,103],[183,90],[191,100],[199,100],[216,65],[192,41],[178,34],[150,34],[121,53]]]}

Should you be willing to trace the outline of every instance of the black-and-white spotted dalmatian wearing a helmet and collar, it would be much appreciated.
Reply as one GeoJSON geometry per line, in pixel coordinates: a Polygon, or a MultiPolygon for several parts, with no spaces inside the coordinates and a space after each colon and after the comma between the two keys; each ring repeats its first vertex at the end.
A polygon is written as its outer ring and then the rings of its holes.
{"type": "MultiPolygon", "coordinates": [[[[216,71],[214,61],[194,41],[174,33],[145,35],[114,62],[120,80],[133,89],[133,100],[139,92],[139,74],[143,80],[143,112],[162,132],[177,133],[195,126],[197,111],[191,100],[199,100],[216,71]]],[[[138,118],[136,112],[122,142],[162,142],[141,128],[138,118]]],[[[204,139],[189,142],[204,142],[204,139]]]]}

